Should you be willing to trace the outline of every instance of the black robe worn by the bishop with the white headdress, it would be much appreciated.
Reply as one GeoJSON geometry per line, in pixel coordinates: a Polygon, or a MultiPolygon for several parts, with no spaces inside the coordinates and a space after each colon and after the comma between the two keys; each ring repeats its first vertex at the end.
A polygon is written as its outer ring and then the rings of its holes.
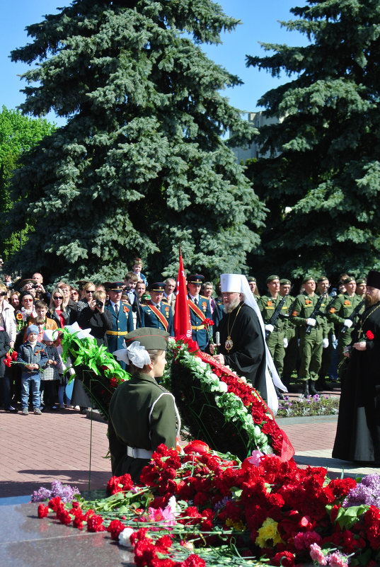
{"type": "Polygon", "coordinates": [[[218,354],[224,356],[224,364],[230,366],[239,376],[246,377],[266,400],[265,343],[255,311],[241,302],[234,311],[224,314],[217,331],[220,333],[221,343],[218,354]],[[233,342],[229,351],[225,345],[228,336],[231,336],[233,342]]]}

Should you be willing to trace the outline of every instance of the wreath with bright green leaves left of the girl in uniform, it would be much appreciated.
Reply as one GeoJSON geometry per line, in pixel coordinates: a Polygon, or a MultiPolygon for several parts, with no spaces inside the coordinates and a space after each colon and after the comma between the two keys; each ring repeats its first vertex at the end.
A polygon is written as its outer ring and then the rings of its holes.
{"type": "Polygon", "coordinates": [[[98,346],[95,338],[78,338],[78,333],[62,332],[62,358],[69,358],[76,371],[76,379],[83,382],[93,404],[108,420],[110,400],[115,391],[130,376],[120,367],[105,346],[98,346]]]}

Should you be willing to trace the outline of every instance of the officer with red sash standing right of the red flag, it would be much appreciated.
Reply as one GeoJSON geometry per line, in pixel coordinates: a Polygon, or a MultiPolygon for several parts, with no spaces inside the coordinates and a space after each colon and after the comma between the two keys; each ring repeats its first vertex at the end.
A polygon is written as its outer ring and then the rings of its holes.
{"type": "Polygon", "coordinates": [[[205,351],[209,336],[205,327],[205,319],[212,319],[211,306],[207,297],[200,295],[200,287],[205,277],[200,274],[188,275],[188,304],[192,340],[196,340],[200,350],[205,351]]]}

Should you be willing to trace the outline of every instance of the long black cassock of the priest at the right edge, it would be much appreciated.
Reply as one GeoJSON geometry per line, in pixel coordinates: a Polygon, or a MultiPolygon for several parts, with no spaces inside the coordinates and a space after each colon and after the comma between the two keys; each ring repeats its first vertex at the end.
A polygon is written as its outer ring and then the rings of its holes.
{"type": "Polygon", "coordinates": [[[362,314],[352,344],[360,340],[366,341],[367,350],[352,348],[350,353],[333,457],[380,464],[380,302],[362,314]]]}

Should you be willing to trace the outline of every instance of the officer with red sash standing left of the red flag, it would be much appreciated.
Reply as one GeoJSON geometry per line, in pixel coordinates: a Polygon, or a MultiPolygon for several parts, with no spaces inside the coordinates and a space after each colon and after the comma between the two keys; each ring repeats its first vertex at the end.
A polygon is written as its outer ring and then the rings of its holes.
{"type": "Polygon", "coordinates": [[[171,306],[163,302],[164,282],[156,282],[148,287],[151,299],[142,305],[142,326],[159,328],[161,331],[168,331],[171,337],[174,336],[173,311],[171,306]]]}

